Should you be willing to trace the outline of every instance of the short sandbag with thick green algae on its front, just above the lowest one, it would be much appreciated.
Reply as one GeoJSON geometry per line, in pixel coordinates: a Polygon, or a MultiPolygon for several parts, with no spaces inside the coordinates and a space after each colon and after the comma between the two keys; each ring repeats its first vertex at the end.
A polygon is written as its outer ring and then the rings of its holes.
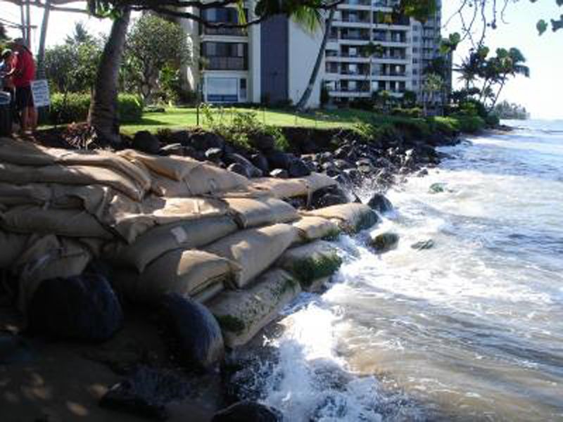
{"type": "Polygon", "coordinates": [[[315,281],[334,275],[341,265],[338,250],[326,241],[286,250],[277,262],[277,266],[293,275],[304,290],[312,288],[315,281]]]}

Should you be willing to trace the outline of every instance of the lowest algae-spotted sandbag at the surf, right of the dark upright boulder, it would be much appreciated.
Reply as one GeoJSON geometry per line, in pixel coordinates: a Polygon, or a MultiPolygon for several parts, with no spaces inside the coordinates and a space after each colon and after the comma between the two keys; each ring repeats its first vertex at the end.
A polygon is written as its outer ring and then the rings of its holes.
{"type": "Polygon", "coordinates": [[[299,293],[299,283],[276,269],[260,276],[252,288],[225,291],[206,305],[221,326],[225,345],[233,348],[248,343],[299,293]]]}

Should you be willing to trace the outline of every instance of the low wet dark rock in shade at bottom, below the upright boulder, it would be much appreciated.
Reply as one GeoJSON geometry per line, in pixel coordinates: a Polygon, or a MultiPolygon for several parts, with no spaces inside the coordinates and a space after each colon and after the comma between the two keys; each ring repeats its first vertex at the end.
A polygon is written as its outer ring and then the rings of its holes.
{"type": "Polygon", "coordinates": [[[170,416],[167,404],[184,399],[188,393],[189,385],[175,373],[141,366],[113,385],[101,398],[100,407],[165,421],[170,416]]]}

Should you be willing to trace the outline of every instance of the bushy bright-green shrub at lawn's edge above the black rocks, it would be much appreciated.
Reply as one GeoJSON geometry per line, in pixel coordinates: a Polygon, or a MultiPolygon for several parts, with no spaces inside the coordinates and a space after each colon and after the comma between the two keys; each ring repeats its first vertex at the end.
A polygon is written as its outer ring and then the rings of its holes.
{"type": "Polygon", "coordinates": [[[243,112],[234,109],[213,109],[210,105],[201,106],[203,122],[210,130],[221,135],[227,141],[243,148],[254,149],[251,140],[253,136],[272,136],[276,148],[281,151],[289,150],[289,141],[281,129],[270,124],[264,124],[253,111],[243,112]]]}

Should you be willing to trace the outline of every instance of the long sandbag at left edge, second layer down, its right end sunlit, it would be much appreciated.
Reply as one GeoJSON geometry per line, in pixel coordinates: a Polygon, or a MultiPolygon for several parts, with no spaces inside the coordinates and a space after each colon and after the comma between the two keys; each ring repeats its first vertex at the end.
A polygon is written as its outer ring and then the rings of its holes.
{"type": "Polygon", "coordinates": [[[124,193],[133,200],[141,200],[146,190],[120,172],[103,167],[84,165],[48,165],[44,167],[30,167],[0,162],[0,181],[30,184],[56,183],[68,185],[101,184],[110,186],[116,191],[124,193]]]}

